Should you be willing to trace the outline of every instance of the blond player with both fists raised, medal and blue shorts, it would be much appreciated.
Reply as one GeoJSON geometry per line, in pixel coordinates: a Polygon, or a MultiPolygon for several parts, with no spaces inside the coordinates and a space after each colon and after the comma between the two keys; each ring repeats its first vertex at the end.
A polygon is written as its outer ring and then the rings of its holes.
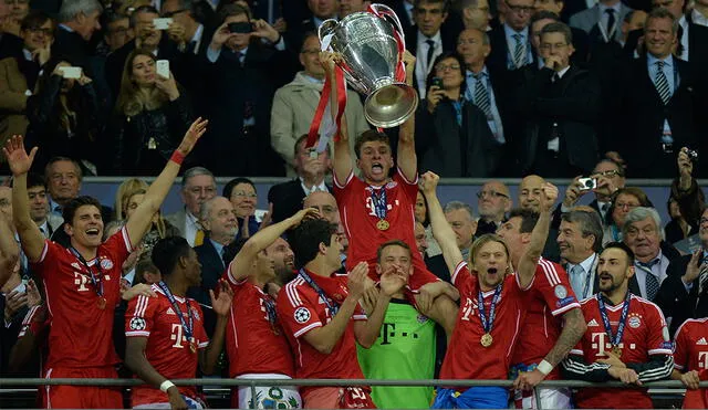
{"type": "MultiPolygon", "coordinates": [[[[558,198],[558,188],[550,183],[543,187],[541,214],[525,252],[519,257],[516,274],[510,267],[507,244],[494,234],[485,234],[472,244],[470,272],[435,193],[439,177],[426,172],[421,179],[433,234],[454,272],[452,284],[459,290],[461,302],[440,378],[506,380],[529,304],[528,291],[549,234],[550,209],[558,198]]],[[[433,408],[506,409],[508,399],[508,389],[501,387],[439,388],[433,408]]]]}

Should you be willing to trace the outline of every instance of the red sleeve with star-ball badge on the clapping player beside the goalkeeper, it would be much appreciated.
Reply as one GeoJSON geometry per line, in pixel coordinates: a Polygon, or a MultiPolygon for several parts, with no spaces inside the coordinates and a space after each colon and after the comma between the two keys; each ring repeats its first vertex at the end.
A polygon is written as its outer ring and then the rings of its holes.
{"type": "Polygon", "coordinates": [[[310,303],[292,282],[280,290],[277,307],[283,327],[293,337],[300,337],[315,327],[323,326],[317,315],[317,306],[310,303]]]}

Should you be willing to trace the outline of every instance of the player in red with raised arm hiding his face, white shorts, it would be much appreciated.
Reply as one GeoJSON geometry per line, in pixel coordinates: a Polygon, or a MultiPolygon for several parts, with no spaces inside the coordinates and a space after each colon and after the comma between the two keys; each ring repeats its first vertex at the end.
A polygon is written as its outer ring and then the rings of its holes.
{"type": "MultiPolygon", "coordinates": [[[[227,254],[236,254],[225,273],[235,294],[226,333],[230,377],[291,379],[295,374],[290,345],[275,311],[275,301],[263,292],[266,284],[277,278],[275,263],[266,250],[272,243],[282,241],[280,236],[287,230],[298,225],[304,218],[314,215],[317,215],[317,211],[312,208],[301,210],[261,229],[248,241],[237,241],[227,248],[227,254]]],[[[259,386],[254,398],[250,387],[238,389],[240,409],[294,409],[301,406],[295,387],[259,386]]]]}

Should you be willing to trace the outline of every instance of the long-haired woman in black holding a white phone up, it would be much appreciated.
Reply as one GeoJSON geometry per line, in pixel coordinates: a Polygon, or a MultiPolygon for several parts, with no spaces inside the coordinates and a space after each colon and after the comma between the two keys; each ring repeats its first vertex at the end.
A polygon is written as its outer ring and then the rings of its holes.
{"type": "Polygon", "coordinates": [[[133,51],[123,70],[121,93],[108,133],[116,175],[155,176],[192,120],[189,102],[175,82],[157,74],[155,56],[133,51]]]}

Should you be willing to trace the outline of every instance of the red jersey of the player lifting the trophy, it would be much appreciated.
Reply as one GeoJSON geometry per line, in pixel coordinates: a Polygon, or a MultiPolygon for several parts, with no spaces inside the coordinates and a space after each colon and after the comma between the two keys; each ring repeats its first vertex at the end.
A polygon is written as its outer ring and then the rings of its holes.
{"type": "Polygon", "coordinates": [[[414,181],[408,181],[400,169],[392,181],[384,187],[372,187],[366,182],[350,174],[346,181],[342,183],[334,177],[334,197],[340,208],[340,217],[350,241],[346,255],[346,270],[351,271],[357,263],[365,261],[368,263],[368,274],[375,282],[378,281],[376,274],[376,251],[378,246],[392,240],[404,241],[410,246],[413,252],[414,274],[408,280],[408,286],[417,291],[426,283],[437,281],[437,276],[428,272],[419,252],[415,252],[416,239],[414,228],[416,218],[414,208],[418,197],[418,177],[414,181]],[[379,230],[372,192],[374,190],[386,190],[386,221],[387,230],[379,230]]]}

